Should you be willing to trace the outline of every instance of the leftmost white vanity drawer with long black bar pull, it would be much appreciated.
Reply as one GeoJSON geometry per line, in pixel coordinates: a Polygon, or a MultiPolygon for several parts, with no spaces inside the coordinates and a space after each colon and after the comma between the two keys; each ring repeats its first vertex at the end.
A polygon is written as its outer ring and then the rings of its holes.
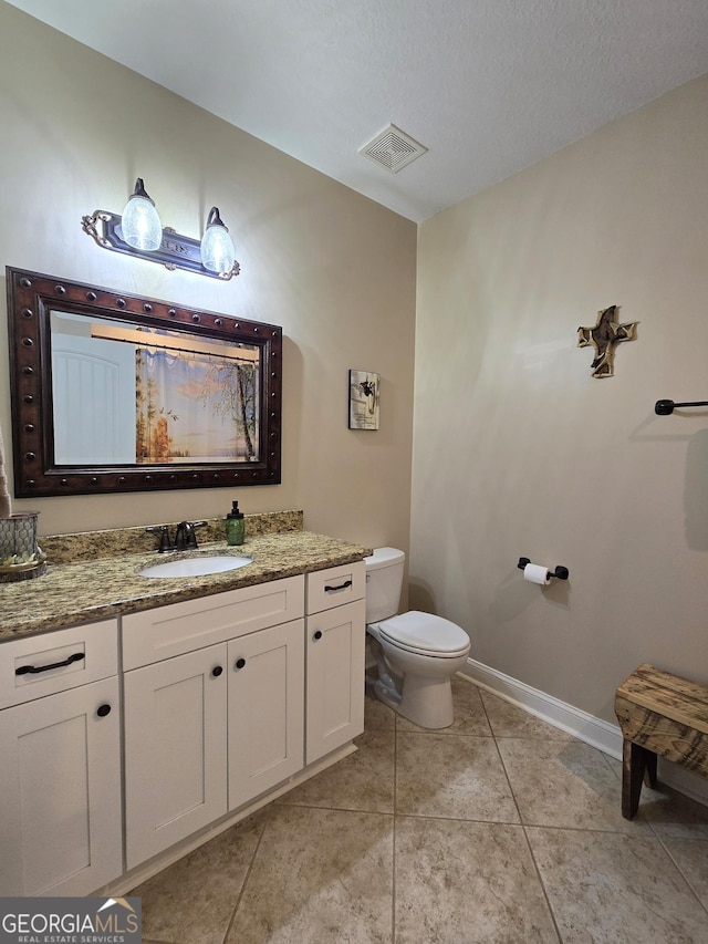
{"type": "Polygon", "coordinates": [[[117,621],[0,644],[0,708],[108,678],[118,671],[117,621]]]}

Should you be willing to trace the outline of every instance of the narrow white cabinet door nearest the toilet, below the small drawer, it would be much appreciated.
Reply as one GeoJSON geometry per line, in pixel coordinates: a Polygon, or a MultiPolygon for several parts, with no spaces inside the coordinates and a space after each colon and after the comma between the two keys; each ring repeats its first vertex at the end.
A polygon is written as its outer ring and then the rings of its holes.
{"type": "Polygon", "coordinates": [[[365,616],[364,600],[308,616],[306,764],[364,730],[365,616]]]}

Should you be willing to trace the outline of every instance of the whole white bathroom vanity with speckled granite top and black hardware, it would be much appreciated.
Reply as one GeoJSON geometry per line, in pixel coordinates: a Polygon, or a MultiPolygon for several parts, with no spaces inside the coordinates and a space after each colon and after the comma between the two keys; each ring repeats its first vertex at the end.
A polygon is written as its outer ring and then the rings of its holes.
{"type": "Polygon", "coordinates": [[[150,580],[128,554],[2,589],[0,895],[127,891],[353,749],[369,549],[239,550],[227,573],[150,580]]]}

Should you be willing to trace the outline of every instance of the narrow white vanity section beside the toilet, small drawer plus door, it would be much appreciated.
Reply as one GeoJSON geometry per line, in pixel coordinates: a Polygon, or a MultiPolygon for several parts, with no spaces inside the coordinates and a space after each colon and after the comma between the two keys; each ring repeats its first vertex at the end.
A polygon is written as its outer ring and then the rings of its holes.
{"type": "Polygon", "coordinates": [[[364,730],[366,567],[308,574],[305,764],[364,730]]]}

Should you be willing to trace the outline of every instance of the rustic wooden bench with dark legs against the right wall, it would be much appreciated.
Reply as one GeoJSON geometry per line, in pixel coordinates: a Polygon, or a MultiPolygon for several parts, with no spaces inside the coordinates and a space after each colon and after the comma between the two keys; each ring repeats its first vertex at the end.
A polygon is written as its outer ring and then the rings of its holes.
{"type": "Polygon", "coordinates": [[[708,687],[641,665],[617,688],[622,816],[633,819],[642,781],[656,786],[657,757],[708,777],[708,687]]]}

